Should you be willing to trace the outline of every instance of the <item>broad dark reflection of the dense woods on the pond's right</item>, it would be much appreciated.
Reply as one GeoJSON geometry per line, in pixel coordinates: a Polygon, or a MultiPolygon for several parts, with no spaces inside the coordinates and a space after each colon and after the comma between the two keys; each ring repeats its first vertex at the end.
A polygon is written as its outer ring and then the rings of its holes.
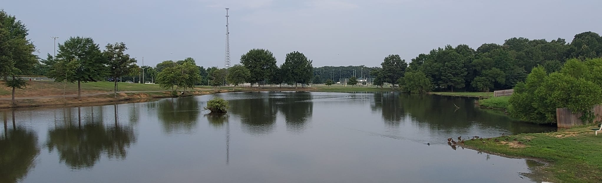
{"type": "Polygon", "coordinates": [[[464,97],[374,94],[371,109],[382,112],[385,124],[392,128],[399,127],[399,122],[409,115],[412,122],[424,124],[435,131],[460,130],[467,133],[473,128],[501,127],[516,134],[555,130],[553,127],[514,121],[507,115],[474,107],[474,100],[464,97]]]}

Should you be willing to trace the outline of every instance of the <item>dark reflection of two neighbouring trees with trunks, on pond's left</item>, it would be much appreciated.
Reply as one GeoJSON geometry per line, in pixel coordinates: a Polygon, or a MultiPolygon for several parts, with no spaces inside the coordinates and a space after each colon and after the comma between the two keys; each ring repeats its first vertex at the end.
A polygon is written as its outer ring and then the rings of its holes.
{"type": "MultiPolygon", "coordinates": [[[[132,127],[119,124],[117,106],[114,107],[115,120],[111,125],[105,125],[102,116],[101,119],[95,116],[82,119],[78,107],[77,119],[65,115],[61,124],[48,131],[46,148],[49,152],[56,150],[61,163],[72,169],[92,168],[103,154],[109,159],[125,159],[127,149],[136,142],[136,137],[132,127]]],[[[65,114],[70,113],[70,110],[64,110],[65,114]]]]}

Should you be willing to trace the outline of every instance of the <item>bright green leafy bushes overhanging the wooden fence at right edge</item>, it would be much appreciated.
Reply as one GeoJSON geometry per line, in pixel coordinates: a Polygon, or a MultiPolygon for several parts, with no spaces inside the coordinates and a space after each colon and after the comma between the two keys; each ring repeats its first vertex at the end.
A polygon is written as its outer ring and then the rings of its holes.
{"type": "Polygon", "coordinates": [[[524,121],[554,124],[556,108],[567,107],[582,113],[580,119],[588,124],[594,122],[597,104],[602,104],[602,58],[575,58],[549,74],[541,65],[533,68],[526,82],[514,88],[509,112],[524,121]]]}

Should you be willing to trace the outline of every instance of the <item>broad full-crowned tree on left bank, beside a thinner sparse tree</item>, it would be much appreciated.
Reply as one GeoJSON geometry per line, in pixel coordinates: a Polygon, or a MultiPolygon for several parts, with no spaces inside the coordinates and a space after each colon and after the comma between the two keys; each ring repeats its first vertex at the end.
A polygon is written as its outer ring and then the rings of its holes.
{"type": "Polygon", "coordinates": [[[49,77],[55,79],[55,82],[73,82],[78,83],[78,98],[81,100],[81,82],[97,82],[107,76],[107,59],[102,55],[98,44],[94,43],[92,38],[70,37],[63,44],[58,44],[57,58],[61,61],[78,62],[78,68],[72,72],[72,76],[64,76],[57,72],[52,72],[49,77]]]}

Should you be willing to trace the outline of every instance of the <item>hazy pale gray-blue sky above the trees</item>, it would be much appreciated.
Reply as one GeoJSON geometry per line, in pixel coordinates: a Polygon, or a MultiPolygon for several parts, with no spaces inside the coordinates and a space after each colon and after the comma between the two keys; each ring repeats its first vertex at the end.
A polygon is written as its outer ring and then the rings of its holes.
{"type": "MultiPolygon", "coordinates": [[[[104,48],[123,41],[145,65],[192,57],[223,67],[225,10],[230,10],[232,64],[249,49],[292,51],[314,67],[380,66],[406,61],[445,44],[503,43],[511,37],[573,40],[602,33],[600,0],[7,0],[0,8],[26,23],[39,55],[53,52],[51,36],[92,37],[104,48]],[[170,55],[173,53],[173,55],[170,55]]],[[[140,63],[141,64],[141,63],[140,63]]]]}

